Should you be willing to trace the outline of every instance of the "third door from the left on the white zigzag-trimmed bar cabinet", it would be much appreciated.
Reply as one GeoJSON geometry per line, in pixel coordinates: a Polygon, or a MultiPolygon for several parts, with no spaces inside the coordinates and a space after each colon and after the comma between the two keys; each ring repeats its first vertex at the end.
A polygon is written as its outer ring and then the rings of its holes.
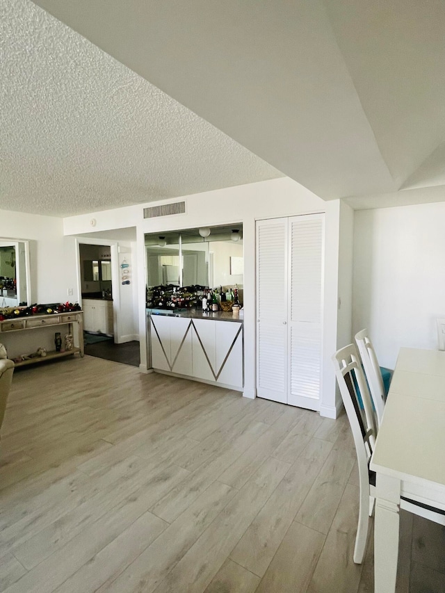
{"type": "Polygon", "coordinates": [[[216,323],[210,319],[193,319],[193,376],[198,379],[216,381],[216,323]]]}

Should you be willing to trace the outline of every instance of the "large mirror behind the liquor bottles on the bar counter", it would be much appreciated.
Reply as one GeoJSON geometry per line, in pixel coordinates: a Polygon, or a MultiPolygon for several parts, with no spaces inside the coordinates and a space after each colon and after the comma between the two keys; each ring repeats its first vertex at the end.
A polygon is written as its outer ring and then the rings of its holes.
{"type": "MultiPolygon", "coordinates": [[[[203,286],[243,295],[243,225],[146,234],[147,293],[154,287],[203,286]]],[[[148,300],[148,299],[147,299],[148,300]]]]}

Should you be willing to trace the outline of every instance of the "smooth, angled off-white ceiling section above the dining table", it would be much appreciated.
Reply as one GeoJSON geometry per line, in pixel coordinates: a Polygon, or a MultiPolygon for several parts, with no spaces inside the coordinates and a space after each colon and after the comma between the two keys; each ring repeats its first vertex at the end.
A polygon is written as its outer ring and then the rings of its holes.
{"type": "Polygon", "coordinates": [[[325,200],[445,199],[444,0],[33,1],[325,200]]]}

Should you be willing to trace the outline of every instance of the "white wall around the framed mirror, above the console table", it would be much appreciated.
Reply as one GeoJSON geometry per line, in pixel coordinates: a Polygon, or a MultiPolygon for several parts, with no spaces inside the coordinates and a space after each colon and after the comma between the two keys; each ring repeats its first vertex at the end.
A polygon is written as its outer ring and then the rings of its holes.
{"type": "Polygon", "coordinates": [[[30,241],[31,300],[66,302],[67,289],[76,286],[74,240],[63,236],[63,220],[0,210],[0,237],[30,241]]]}

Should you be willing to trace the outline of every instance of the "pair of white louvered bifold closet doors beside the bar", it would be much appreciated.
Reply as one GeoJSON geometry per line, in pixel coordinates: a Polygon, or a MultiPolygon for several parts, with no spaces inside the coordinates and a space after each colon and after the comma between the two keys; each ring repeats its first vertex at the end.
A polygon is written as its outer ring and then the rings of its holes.
{"type": "Polygon", "coordinates": [[[319,409],[324,215],[257,222],[257,396],[319,409]]]}

